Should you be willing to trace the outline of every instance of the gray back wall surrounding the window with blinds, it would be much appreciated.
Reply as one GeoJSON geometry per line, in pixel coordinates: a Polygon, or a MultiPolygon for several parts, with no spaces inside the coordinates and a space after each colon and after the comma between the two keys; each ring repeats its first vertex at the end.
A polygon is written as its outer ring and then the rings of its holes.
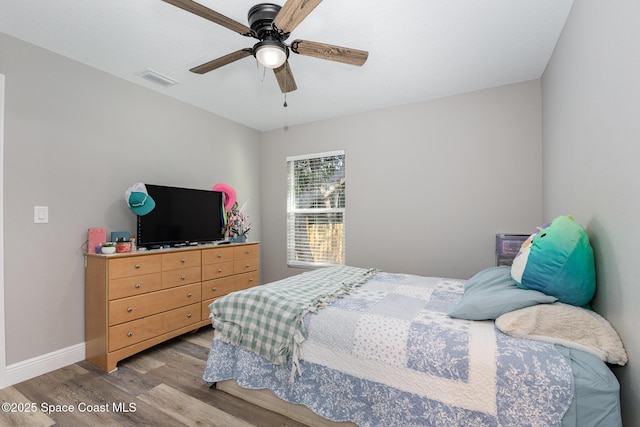
{"type": "Polygon", "coordinates": [[[484,90],[262,137],[263,277],[286,266],[286,161],[346,150],[347,264],[467,278],[495,233],[542,219],[540,82],[484,90]]]}

